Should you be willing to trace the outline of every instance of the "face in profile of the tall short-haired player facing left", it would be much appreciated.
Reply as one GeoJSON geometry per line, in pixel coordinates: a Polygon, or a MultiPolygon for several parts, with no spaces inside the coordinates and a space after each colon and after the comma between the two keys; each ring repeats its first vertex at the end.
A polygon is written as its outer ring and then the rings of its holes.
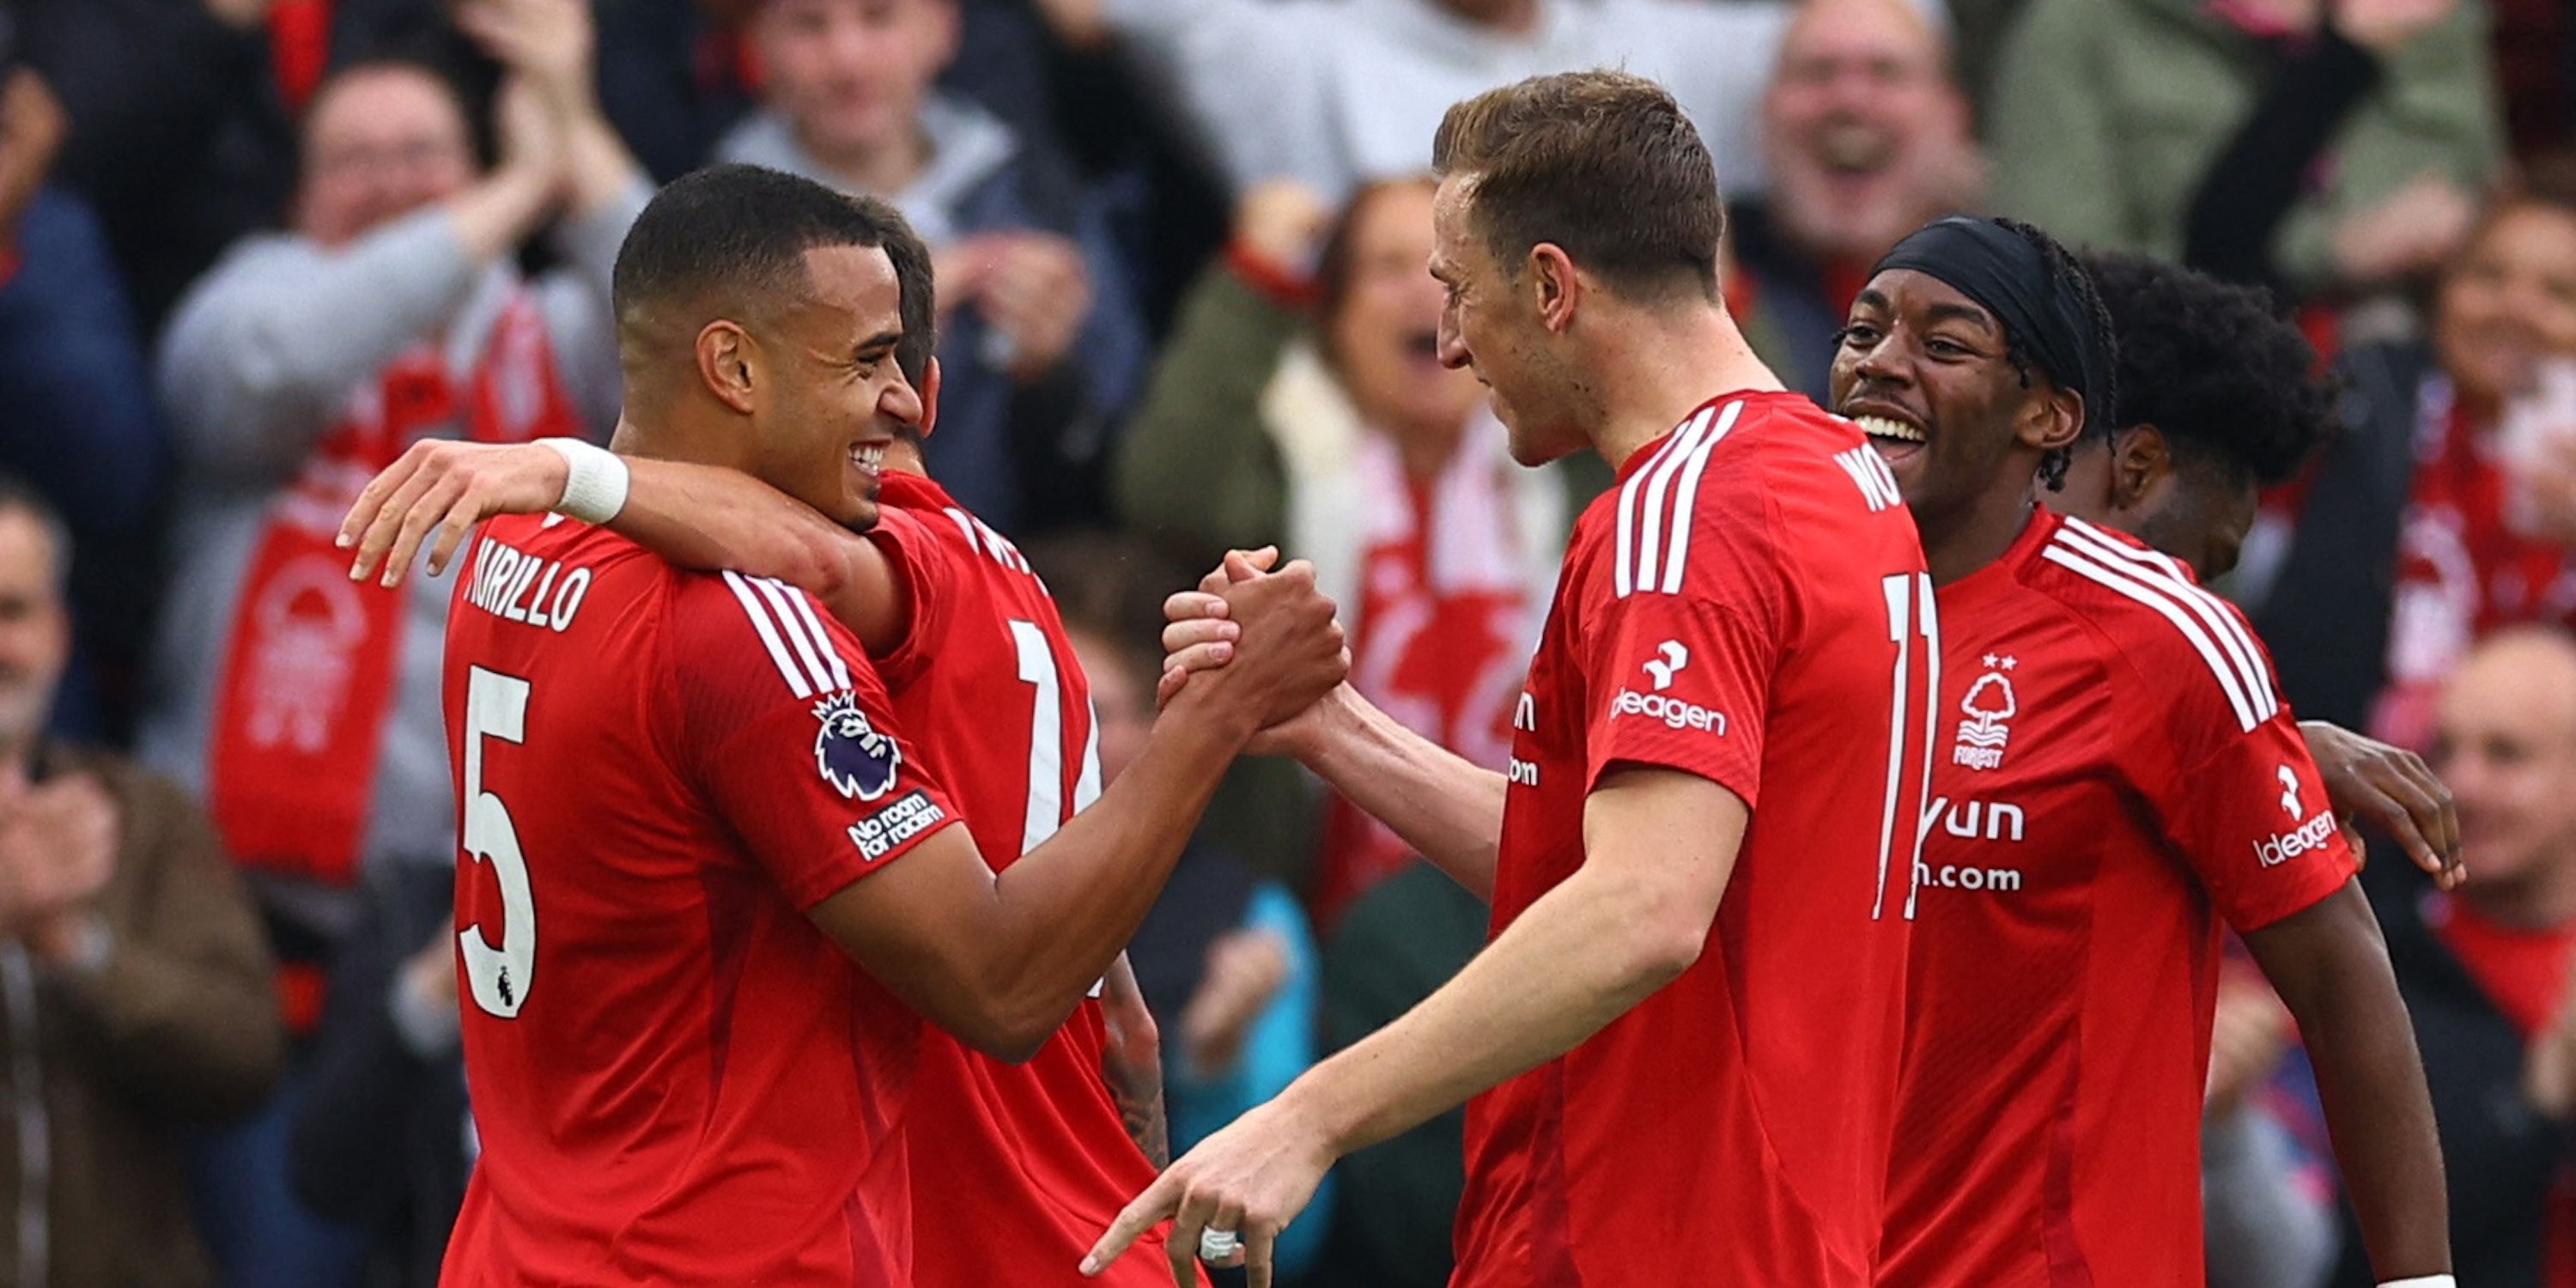
{"type": "Polygon", "coordinates": [[[1473,175],[1448,175],[1432,198],[1432,278],[1445,289],[1437,358],[1473,371],[1510,430],[1512,459],[1540,466],[1589,446],[1579,389],[1556,355],[1535,286],[1494,263],[1473,227],[1473,175]]]}

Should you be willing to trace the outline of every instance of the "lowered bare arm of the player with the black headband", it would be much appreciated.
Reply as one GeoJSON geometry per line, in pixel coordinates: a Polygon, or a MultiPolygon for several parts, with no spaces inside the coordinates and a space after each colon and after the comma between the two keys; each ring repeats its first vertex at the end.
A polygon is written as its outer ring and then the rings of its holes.
{"type": "Polygon", "coordinates": [[[2447,1275],[2450,1198],[2432,1095],[2360,886],[2246,935],[2246,945],[2298,1018],[2372,1273],[2447,1275]]]}

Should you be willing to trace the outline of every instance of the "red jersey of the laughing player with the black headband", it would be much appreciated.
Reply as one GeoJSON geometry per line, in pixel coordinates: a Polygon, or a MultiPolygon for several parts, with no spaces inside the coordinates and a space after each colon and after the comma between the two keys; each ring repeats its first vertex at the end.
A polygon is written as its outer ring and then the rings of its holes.
{"type": "Polygon", "coordinates": [[[2038,513],[1940,590],[1945,747],[1878,1283],[2202,1283],[2218,920],[2342,889],[2352,850],[2244,613],[2038,513]]]}

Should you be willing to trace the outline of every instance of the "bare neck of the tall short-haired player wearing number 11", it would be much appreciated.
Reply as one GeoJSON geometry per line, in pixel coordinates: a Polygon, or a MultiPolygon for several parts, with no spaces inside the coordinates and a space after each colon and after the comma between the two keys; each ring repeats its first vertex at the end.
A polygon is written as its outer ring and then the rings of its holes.
{"type": "Polygon", "coordinates": [[[1592,448],[1610,469],[1718,394],[1788,389],[1744,343],[1723,304],[1623,314],[1610,327],[1620,340],[1600,345],[1587,363],[1600,397],[1592,448]]]}

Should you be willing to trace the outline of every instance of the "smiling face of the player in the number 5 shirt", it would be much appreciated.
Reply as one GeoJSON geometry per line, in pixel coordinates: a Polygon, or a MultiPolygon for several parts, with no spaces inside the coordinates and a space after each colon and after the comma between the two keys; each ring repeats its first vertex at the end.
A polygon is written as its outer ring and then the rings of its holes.
{"type": "Polygon", "coordinates": [[[922,397],[894,361],[902,286],[881,247],[814,247],[804,265],[804,299],[757,337],[768,386],[752,407],[752,474],[866,531],[886,443],[922,422],[922,397]]]}

